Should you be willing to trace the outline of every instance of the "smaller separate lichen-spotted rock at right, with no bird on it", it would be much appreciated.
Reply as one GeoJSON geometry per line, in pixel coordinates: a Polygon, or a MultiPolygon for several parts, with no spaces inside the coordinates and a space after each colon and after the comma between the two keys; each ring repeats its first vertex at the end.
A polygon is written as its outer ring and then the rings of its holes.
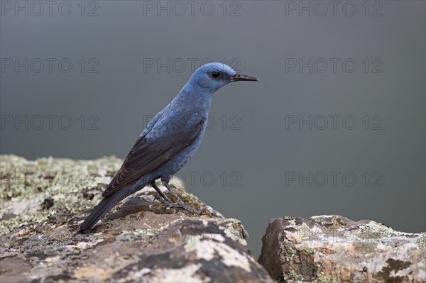
{"type": "Polygon", "coordinates": [[[342,216],[269,221],[259,262],[278,282],[426,282],[426,233],[342,216]]]}

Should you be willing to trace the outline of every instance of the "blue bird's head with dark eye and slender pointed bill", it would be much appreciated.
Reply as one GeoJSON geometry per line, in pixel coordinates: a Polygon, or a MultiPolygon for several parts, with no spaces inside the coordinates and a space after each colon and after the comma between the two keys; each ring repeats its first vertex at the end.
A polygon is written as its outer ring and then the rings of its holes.
{"type": "Polygon", "coordinates": [[[192,84],[205,89],[217,91],[230,82],[238,81],[254,81],[257,82],[256,77],[251,77],[246,74],[240,74],[234,71],[228,65],[222,63],[209,63],[202,65],[198,68],[190,78],[192,84]]]}

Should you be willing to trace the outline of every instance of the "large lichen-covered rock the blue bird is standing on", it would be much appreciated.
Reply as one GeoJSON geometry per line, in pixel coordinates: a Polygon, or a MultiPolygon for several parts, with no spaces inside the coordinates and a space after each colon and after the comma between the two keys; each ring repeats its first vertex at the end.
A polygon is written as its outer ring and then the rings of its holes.
{"type": "Polygon", "coordinates": [[[82,235],[80,223],[121,160],[0,155],[0,165],[2,283],[272,282],[247,248],[241,222],[224,218],[179,182],[182,200],[204,209],[202,216],[164,210],[145,188],[82,235]]]}

